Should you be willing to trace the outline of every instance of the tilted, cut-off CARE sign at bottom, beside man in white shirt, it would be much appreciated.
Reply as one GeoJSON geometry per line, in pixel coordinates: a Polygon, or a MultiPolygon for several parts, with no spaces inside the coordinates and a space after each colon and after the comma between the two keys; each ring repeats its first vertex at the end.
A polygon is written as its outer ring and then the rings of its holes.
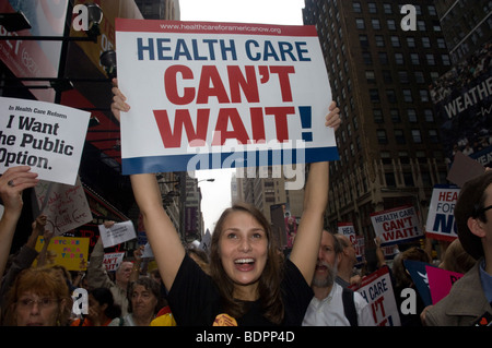
{"type": "Polygon", "coordinates": [[[370,303],[377,326],[400,326],[400,315],[387,266],[365,277],[356,291],[370,303]]]}

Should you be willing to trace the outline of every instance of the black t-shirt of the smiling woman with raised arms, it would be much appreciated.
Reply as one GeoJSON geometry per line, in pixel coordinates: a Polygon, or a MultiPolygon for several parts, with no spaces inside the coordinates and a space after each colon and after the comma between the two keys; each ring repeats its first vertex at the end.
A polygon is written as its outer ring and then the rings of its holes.
{"type": "MultiPolygon", "coordinates": [[[[314,293],[290,260],[285,261],[284,267],[281,283],[284,304],[282,325],[301,326],[314,293]]],[[[218,315],[226,314],[212,278],[188,255],[183,260],[167,300],[176,323],[181,326],[211,326],[218,315]]],[[[239,326],[274,325],[261,315],[260,301],[249,304],[250,309],[243,317],[235,317],[239,326]]]]}

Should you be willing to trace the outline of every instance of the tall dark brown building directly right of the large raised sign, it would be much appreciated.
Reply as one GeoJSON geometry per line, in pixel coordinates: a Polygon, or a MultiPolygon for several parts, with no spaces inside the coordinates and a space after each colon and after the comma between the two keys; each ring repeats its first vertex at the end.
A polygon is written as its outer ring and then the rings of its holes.
{"type": "Polygon", "coordinates": [[[368,243],[371,213],[411,204],[424,221],[433,185],[447,176],[429,86],[450,58],[433,2],[401,13],[408,2],[305,0],[303,9],[342,118],[326,224],[353,223],[368,243]]]}

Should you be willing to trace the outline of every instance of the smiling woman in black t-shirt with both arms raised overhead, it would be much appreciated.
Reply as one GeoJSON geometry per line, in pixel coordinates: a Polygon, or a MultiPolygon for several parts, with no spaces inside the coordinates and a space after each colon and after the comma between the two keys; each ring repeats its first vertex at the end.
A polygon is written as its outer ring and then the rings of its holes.
{"type": "MultiPolygon", "coordinates": [[[[117,87],[113,93],[112,110],[119,119],[129,105],[117,87]]],[[[325,124],[340,124],[335,103],[325,124]]],[[[131,184],[178,325],[302,324],[313,298],[309,285],[328,201],[328,163],[311,165],[290,260],[274,247],[265,216],[251,205],[237,204],[227,208],[215,226],[210,276],[186,254],[162,205],[155,175],[132,175],[131,184]]]]}

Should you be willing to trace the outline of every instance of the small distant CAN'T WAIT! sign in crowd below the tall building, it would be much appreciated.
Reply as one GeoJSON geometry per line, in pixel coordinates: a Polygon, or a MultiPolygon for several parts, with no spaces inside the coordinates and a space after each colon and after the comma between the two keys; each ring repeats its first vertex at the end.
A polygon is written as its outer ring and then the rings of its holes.
{"type": "Polygon", "coordinates": [[[372,213],[371,221],[376,236],[382,240],[382,245],[408,242],[423,236],[413,206],[372,213]]]}

